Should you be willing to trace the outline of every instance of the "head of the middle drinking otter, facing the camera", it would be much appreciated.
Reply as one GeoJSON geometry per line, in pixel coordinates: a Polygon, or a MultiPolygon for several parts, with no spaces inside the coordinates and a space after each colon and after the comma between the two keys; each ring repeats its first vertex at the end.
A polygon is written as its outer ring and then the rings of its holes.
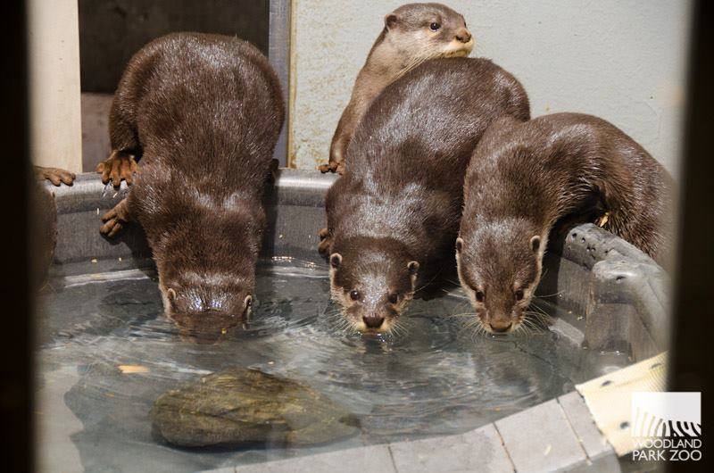
{"type": "Polygon", "coordinates": [[[332,300],[347,323],[362,332],[389,332],[414,295],[419,262],[387,239],[345,241],[333,250],[332,300]]]}

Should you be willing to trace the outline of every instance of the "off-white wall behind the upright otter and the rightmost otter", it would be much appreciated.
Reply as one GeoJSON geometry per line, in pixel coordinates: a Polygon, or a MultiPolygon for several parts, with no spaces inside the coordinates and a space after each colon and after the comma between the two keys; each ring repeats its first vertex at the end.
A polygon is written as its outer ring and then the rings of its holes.
{"type": "MultiPolygon", "coordinates": [[[[292,163],[327,161],[357,71],[405,2],[293,0],[292,163]]],[[[610,120],[677,172],[689,1],[447,0],[488,57],[526,87],[534,117],[586,112],[610,120]]]]}

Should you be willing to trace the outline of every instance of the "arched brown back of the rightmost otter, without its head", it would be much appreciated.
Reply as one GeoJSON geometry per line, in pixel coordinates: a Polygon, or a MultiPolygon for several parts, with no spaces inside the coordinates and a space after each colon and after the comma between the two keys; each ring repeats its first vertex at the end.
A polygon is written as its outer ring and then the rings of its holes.
{"type": "Polygon", "coordinates": [[[673,180],[635,140],[597,117],[499,120],[477,147],[466,187],[461,225],[468,233],[478,220],[523,217],[545,229],[563,219],[590,221],[667,260],[673,180]]]}

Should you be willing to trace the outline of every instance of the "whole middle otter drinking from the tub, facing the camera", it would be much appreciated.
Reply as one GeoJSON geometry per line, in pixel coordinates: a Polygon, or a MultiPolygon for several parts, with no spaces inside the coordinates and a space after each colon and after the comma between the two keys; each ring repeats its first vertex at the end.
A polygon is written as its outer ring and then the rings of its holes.
{"type": "Polygon", "coordinates": [[[353,328],[382,332],[415,293],[455,269],[463,176],[486,127],[528,120],[525,90],[485,59],[435,59],[387,86],[326,198],[333,300],[353,328]]]}

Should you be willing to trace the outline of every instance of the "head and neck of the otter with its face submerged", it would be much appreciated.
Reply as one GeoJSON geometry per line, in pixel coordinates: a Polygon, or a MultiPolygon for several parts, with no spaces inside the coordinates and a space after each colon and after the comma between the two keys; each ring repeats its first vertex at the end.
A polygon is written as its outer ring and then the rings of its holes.
{"type": "Polygon", "coordinates": [[[185,194],[164,198],[170,212],[150,215],[147,236],[166,317],[181,335],[215,341],[250,315],[262,223],[247,206],[207,212],[185,194]]]}

